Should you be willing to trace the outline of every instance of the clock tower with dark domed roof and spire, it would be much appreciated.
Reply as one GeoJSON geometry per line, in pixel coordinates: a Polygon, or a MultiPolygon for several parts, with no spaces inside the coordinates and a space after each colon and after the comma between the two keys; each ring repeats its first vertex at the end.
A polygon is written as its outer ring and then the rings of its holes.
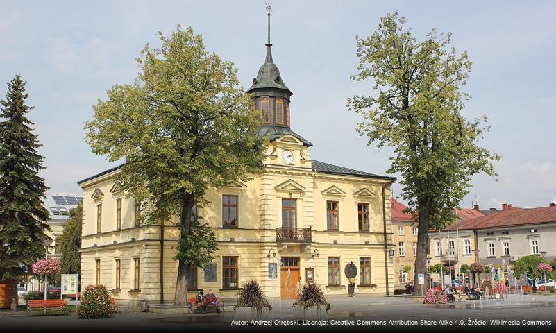
{"type": "Polygon", "coordinates": [[[265,44],[267,56],[247,92],[254,94],[252,105],[260,115],[259,135],[268,137],[271,142],[267,152],[267,163],[310,167],[307,148],[312,144],[290,127],[290,101],[293,93],[285,85],[278,66],[272,59],[270,6],[267,6],[267,10],[268,40],[265,44]]]}

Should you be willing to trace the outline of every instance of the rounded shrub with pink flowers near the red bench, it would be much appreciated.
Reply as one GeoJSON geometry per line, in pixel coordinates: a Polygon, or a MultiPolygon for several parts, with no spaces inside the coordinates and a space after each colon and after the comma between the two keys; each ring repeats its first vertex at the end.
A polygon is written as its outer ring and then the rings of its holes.
{"type": "Polygon", "coordinates": [[[108,318],[112,316],[110,293],[106,286],[89,285],[81,293],[81,305],[77,308],[80,319],[108,318]]]}

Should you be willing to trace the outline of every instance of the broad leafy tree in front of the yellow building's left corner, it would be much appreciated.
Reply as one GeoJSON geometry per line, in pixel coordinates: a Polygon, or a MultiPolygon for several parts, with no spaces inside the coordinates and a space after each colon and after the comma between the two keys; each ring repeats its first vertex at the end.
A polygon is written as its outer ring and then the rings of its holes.
{"type": "Polygon", "coordinates": [[[142,51],[135,82],[112,87],[85,128],[94,153],[126,161],[119,180],[144,203],[145,223],[178,216],[174,303],[185,305],[189,267],[217,250],[210,228],[192,219],[194,205],[211,187],[262,172],[266,139],[232,62],[206,51],[192,28],[159,36],[160,48],[142,51]]]}

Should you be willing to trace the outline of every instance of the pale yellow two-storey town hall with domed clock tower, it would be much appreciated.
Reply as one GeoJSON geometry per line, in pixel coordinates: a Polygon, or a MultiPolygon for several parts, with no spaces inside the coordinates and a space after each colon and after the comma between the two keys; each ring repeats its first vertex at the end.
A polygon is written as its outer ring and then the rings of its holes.
{"type": "MultiPolygon", "coordinates": [[[[189,281],[233,298],[257,280],[270,298],[294,298],[306,282],[346,295],[344,268],[358,268],[356,293],[387,293],[394,287],[389,250],[390,185],[377,176],[312,160],[306,139],[290,128],[292,92],[267,58],[248,92],[261,114],[259,133],[269,138],[265,170],[249,182],[210,189],[197,214],[219,241],[217,258],[195,268],[189,281]]],[[[171,302],[178,262],[178,230],[135,223],[140,205],[126,198],[114,177],[120,167],[78,184],[83,189],[81,284],[106,284],[119,305],[141,299],[171,302]]],[[[191,297],[191,296],[190,296],[191,297]]]]}

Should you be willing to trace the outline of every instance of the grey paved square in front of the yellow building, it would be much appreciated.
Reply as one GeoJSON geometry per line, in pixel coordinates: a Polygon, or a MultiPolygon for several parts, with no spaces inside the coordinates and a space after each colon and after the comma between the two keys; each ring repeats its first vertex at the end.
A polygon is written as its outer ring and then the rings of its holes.
{"type": "MultiPolygon", "coordinates": [[[[522,330],[525,328],[523,325],[545,321],[544,325],[534,327],[534,330],[546,329],[554,332],[556,328],[556,296],[534,296],[534,300],[532,298],[530,296],[529,298],[508,298],[505,301],[491,300],[491,302],[485,301],[482,304],[466,301],[455,305],[423,305],[412,298],[382,296],[330,297],[332,309],[326,326],[323,328],[332,327],[332,321],[342,321],[342,323],[345,321],[344,324],[348,325],[353,322],[352,328],[366,327],[367,330],[377,328],[375,324],[380,324],[381,321],[384,321],[385,325],[379,325],[378,327],[388,327],[390,323],[412,326],[413,328],[423,324],[437,327],[440,323],[444,323],[444,325],[450,325],[450,331],[472,330],[475,332],[480,328],[488,328],[491,331],[502,328],[507,332],[509,329],[518,327],[514,325],[491,326],[493,324],[491,320],[500,320],[519,323],[519,328],[522,330]],[[372,321],[373,325],[356,325],[357,321],[363,323],[372,321]],[[550,325],[548,322],[550,322],[550,325]]],[[[292,302],[289,301],[274,301],[273,317],[278,318],[278,321],[291,321],[291,318],[296,317],[299,311],[292,309],[291,304],[292,302]]],[[[229,306],[227,309],[228,311],[224,314],[206,315],[124,312],[115,314],[112,318],[101,320],[80,320],[75,314],[33,317],[0,316],[0,330],[8,332],[18,329],[26,330],[29,327],[44,327],[56,329],[58,332],[81,333],[83,331],[99,332],[99,330],[106,329],[122,330],[123,332],[132,329],[134,332],[144,330],[173,332],[217,327],[235,328],[237,326],[230,325],[233,320],[232,307],[229,306]],[[5,329],[6,331],[4,331],[5,329]]],[[[273,330],[280,327],[283,329],[289,326],[280,325],[280,322],[278,322],[273,323],[272,327],[264,327],[264,330],[273,330]]],[[[334,327],[338,328],[337,326],[334,327]]],[[[242,327],[242,330],[253,328],[261,329],[261,327],[242,327]]]]}

